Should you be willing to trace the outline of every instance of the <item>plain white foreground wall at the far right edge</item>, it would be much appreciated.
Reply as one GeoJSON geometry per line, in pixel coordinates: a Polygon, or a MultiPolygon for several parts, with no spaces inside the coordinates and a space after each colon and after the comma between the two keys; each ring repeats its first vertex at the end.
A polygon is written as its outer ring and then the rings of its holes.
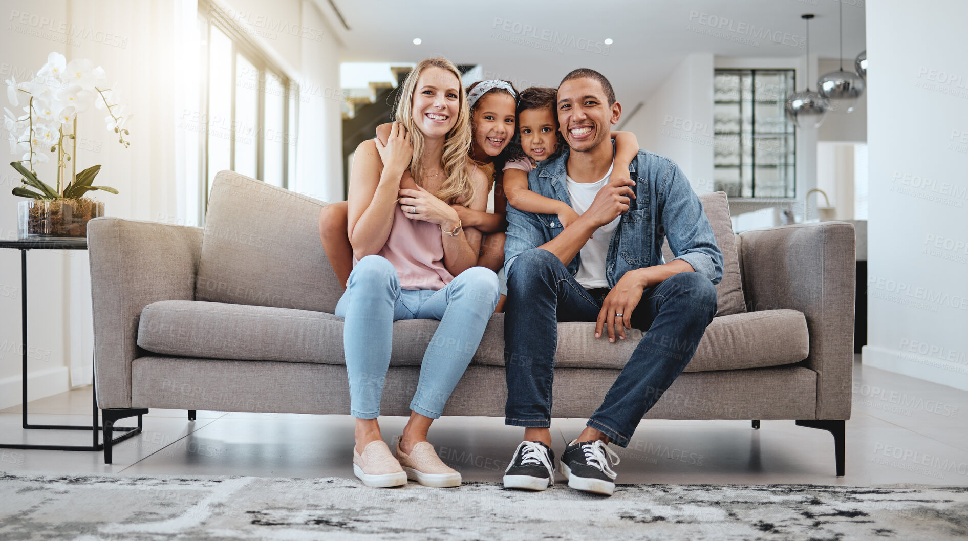
{"type": "Polygon", "coordinates": [[[863,362],[968,389],[968,4],[867,4],[863,362]]]}

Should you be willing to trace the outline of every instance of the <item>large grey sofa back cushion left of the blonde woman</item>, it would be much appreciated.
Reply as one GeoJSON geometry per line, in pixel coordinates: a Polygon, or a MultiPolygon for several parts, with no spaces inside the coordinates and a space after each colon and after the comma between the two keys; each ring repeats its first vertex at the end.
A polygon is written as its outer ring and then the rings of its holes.
{"type": "Polygon", "coordinates": [[[219,171],[205,214],[195,298],[332,314],[343,294],[307,195],[219,171]]]}

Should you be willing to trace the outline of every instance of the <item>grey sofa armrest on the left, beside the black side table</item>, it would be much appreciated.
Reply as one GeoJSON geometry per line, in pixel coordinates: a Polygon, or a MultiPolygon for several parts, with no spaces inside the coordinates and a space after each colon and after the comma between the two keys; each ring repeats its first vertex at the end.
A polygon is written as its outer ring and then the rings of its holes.
{"type": "Polygon", "coordinates": [[[131,407],[141,309],[194,300],[202,229],[102,217],[87,225],[98,406],[131,407]]]}

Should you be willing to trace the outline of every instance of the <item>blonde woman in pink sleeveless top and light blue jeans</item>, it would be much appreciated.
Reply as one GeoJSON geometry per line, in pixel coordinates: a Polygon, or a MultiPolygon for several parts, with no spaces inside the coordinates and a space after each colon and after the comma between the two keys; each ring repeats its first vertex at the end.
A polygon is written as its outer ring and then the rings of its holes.
{"type": "Polygon", "coordinates": [[[453,64],[443,58],[417,64],[396,108],[386,144],[371,139],[357,147],[349,183],[353,269],[335,312],[346,319],[353,472],[371,487],[408,478],[453,487],[461,474],[440,461],[427,431],[480,344],[499,288],[493,270],[475,266],[480,232],[463,228],[450,205],[484,210],[488,183],[468,158],[469,108],[453,64]],[[394,457],[378,415],[399,319],[440,323],[394,457]]]}

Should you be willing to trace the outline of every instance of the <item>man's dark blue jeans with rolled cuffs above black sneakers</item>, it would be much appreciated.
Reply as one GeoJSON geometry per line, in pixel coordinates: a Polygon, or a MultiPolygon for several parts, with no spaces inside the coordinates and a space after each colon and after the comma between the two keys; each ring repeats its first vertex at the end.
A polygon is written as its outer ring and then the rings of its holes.
{"type": "MultiPolygon", "coordinates": [[[[518,255],[507,287],[504,423],[549,427],[558,321],[595,321],[604,297],[592,298],[556,255],[539,248],[518,255]]],[[[715,314],[715,287],[699,273],[683,272],[647,287],[632,326],[648,331],[588,426],[628,445],[642,416],[689,363],[715,314]]],[[[603,328],[598,340],[607,336],[603,328]]]]}

